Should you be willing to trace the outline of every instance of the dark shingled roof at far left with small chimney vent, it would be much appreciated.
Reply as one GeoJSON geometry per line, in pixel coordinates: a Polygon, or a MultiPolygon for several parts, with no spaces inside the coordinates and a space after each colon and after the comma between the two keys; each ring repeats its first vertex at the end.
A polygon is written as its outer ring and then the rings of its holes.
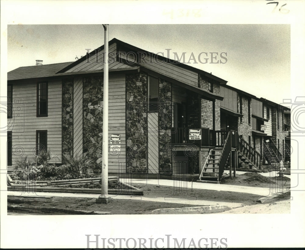
{"type": "Polygon", "coordinates": [[[56,76],[56,72],[67,67],[73,62],[53,63],[19,67],[7,73],[7,80],[30,79],[39,77],[56,76]]]}

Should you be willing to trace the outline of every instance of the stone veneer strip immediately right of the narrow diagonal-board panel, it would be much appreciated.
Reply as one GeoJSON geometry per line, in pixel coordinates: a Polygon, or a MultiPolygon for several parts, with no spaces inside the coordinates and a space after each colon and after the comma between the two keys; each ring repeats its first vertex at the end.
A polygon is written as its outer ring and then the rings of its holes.
{"type": "Polygon", "coordinates": [[[159,79],[159,173],[172,173],[172,156],[169,150],[172,126],[172,85],[159,79]]]}

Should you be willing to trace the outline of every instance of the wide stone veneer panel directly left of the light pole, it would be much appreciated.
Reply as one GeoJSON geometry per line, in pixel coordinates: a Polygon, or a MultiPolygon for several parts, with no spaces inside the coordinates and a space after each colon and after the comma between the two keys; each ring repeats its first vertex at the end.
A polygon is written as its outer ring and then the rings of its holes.
{"type": "Polygon", "coordinates": [[[102,162],[103,77],[83,79],[83,153],[95,168],[102,162]]]}

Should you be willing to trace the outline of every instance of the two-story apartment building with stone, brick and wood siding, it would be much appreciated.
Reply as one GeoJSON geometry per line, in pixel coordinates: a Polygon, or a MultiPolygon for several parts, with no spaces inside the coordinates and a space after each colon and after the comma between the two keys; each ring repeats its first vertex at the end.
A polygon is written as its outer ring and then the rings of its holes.
{"type": "MultiPolygon", "coordinates": [[[[103,49],[76,62],[8,72],[8,171],[18,157],[34,157],[43,149],[56,155],[52,163],[83,155],[100,168],[103,49]]],[[[109,41],[109,173],[188,173],[196,154],[197,171],[207,167],[206,162],[211,162],[213,172],[223,171],[215,156],[219,152],[227,162],[223,151],[237,148],[236,141],[242,145],[249,140],[260,152],[261,138],[271,135],[278,140],[282,131],[273,133],[274,104],[226,83],[115,38],[109,41]],[[262,124],[267,125],[264,132],[262,124]],[[229,130],[237,132],[235,142],[224,150],[229,130]]],[[[253,166],[258,152],[249,161],[253,166]]]]}

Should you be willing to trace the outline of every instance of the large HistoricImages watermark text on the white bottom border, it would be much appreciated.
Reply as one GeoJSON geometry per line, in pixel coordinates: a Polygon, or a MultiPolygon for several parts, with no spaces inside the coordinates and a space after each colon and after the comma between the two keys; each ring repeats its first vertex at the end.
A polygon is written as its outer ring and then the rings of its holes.
{"type": "Polygon", "coordinates": [[[102,238],[100,234],[85,234],[86,249],[147,249],[147,248],[194,248],[194,249],[227,249],[227,238],[174,238],[165,234],[163,238],[102,238]]]}

